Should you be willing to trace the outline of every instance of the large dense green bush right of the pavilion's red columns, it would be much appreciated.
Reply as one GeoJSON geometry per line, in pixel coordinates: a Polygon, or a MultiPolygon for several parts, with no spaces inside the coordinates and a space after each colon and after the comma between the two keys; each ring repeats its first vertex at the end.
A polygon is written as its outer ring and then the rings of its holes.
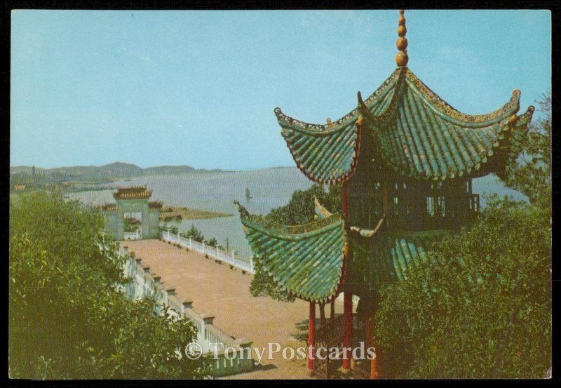
{"type": "Polygon", "coordinates": [[[388,377],[545,377],[551,362],[548,209],[490,201],[474,224],[381,288],[388,377]]]}

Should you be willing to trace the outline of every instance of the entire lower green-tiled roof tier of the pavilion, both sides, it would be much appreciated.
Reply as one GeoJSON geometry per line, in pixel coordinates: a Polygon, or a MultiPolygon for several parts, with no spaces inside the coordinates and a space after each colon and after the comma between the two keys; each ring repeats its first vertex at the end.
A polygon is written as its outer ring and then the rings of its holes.
{"type": "MultiPolygon", "coordinates": [[[[326,302],[337,295],[343,279],[345,234],[344,221],[338,214],[287,226],[252,215],[237,204],[252,252],[283,290],[310,302],[326,302]]],[[[317,207],[323,208],[316,201],[317,207]]],[[[343,290],[364,295],[384,283],[407,280],[412,269],[424,267],[426,248],[447,233],[388,234],[384,218],[372,231],[350,227],[352,254],[343,290]]]]}

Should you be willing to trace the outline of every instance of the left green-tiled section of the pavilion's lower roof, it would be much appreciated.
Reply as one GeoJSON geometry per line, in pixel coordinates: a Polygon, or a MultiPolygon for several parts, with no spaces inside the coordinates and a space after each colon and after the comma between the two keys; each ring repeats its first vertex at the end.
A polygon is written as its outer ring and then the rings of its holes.
{"type": "Polygon", "coordinates": [[[339,215],[288,227],[250,215],[239,203],[238,208],[253,253],[282,288],[313,302],[325,302],[335,295],[344,248],[339,215]]]}

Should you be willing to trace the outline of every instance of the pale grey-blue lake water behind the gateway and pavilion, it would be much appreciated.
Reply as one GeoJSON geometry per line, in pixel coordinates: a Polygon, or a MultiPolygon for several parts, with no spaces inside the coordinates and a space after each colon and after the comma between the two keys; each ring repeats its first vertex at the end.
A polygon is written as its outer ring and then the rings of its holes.
{"type": "MultiPolygon", "coordinates": [[[[201,210],[231,213],[231,217],[208,218],[202,220],[182,220],[170,223],[184,232],[194,225],[203,232],[205,239],[215,237],[221,246],[235,249],[238,255],[250,257],[251,250],[245,241],[241,222],[234,200],[248,209],[250,213],[266,214],[273,208],[283,206],[290,200],[292,192],[307,189],[312,185],[297,168],[270,168],[254,171],[234,171],[224,173],[192,173],[186,175],[161,175],[135,177],[119,180],[116,186],[146,185],[152,190],[152,201],[163,201],[164,206],[186,206],[201,210]],[[250,189],[252,199],[245,199],[245,189],[250,189]]],[[[475,194],[497,193],[499,196],[512,196],[525,199],[525,196],[505,187],[499,178],[487,175],[473,180],[475,194]]],[[[112,190],[76,192],[68,194],[71,199],[83,203],[100,205],[114,202],[112,190]]],[[[485,198],[481,196],[481,206],[485,198]]]]}

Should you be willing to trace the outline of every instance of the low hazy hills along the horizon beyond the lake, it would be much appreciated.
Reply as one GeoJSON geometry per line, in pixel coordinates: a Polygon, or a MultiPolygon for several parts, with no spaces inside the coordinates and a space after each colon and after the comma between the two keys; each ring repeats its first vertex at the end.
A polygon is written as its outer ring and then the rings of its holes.
{"type": "MultiPolygon", "coordinates": [[[[32,166],[10,167],[11,176],[32,175],[32,166]]],[[[131,163],[116,161],[104,166],[71,166],[57,168],[40,168],[35,166],[37,177],[58,180],[113,180],[117,178],[137,177],[142,175],[177,175],[182,173],[223,172],[223,170],[197,169],[191,166],[155,166],[140,168],[131,163]]]]}

